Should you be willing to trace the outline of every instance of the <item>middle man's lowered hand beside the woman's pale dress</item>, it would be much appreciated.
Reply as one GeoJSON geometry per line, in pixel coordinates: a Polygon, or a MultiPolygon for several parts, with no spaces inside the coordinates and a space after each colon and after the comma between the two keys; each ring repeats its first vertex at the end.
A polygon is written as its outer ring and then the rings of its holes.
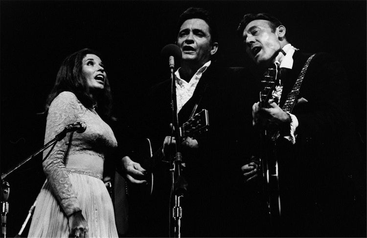
{"type": "Polygon", "coordinates": [[[147,183],[144,179],[140,180],[140,178],[144,177],[146,170],[143,169],[139,163],[134,162],[128,156],[122,158],[121,161],[122,170],[124,171],[126,179],[132,183],[147,183]]]}

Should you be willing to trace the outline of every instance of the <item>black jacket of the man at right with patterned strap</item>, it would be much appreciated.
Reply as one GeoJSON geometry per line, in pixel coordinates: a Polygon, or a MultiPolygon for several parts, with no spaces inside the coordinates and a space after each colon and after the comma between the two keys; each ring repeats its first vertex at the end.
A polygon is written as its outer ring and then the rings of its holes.
{"type": "MultiPolygon", "coordinates": [[[[293,69],[282,78],[280,106],[310,55],[295,52],[293,69]]],[[[363,212],[351,214],[355,188],[365,180],[359,169],[365,162],[358,153],[349,97],[343,66],[330,55],[318,53],[303,79],[298,96],[302,100],[292,111],[299,123],[296,144],[277,142],[283,236],[365,232],[363,222],[355,226],[365,216],[363,212]]]]}

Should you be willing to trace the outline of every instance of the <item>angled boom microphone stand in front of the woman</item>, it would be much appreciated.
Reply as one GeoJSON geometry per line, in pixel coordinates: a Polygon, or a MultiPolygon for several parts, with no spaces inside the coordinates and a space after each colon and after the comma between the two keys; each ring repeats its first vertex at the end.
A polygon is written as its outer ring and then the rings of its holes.
{"type": "MultiPolygon", "coordinates": [[[[46,150],[51,145],[53,145],[53,147],[54,147],[58,141],[64,139],[67,132],[68,132],[68,128],[65,128],[62,132],[57,134],[54,139],[51,139],[49,142],[47,142],[41,149],[36,151],[33,155],[29,156],[27,159],[24,159],[17,166],[10,169],[8,172],[6,172],[4,174],[1,174],[1,234],[4,236],[4,238],[6,238],[6,216],[7,216],[8,210],[9,210],[9,203],[7,201],[8,201],[8,198],[9,198],[9,188],[10,188],[9,183],[7,181],[5,181],[4,179],[8,175],[13,173],[15,170],[17,170],[19,167],[21,167],[24,163],[26,163],[30,159],[33,159],[34,157],[36,157],[38,154],[40,154],[41,152],[46,150]]],[[[51,150],[53,149],[53,147],[51,148],[51,150]]],[[[51,152],[51,150],[50,150],[50,152],[51,152]]]]}

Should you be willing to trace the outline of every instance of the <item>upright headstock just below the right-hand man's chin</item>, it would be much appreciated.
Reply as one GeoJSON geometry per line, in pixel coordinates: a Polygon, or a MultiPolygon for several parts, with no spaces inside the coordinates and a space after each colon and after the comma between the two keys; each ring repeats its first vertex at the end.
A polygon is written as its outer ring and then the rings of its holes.
{"type": "Polygon", "coordinates": [[[279,63],[275,62],[272,68],[268,68],[261,79],[260,106],[268,107],[269,99],[272,99],[275,86],[278,83],[279,63]]]}

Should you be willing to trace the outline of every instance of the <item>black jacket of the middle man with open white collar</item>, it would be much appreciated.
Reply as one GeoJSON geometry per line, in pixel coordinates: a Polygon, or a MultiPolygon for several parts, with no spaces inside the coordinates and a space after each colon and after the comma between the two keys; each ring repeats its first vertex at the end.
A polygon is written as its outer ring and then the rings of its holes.
{"type": "MultiPolygon", "coordinates": [[[[212,62],[203,73],[194,95],[179,113],[179,123],[182,124],[189,118],[199,98],[197,112],[206,109],[209,113],[209,131],[197,138],[199,149],[182,151],[186,165],[183,175],[188,183],[182,203],[183,236],[223,237],[233,232],[231,218],[238,207],[233,205],[232,195],[240,191],[239,166],[244,164],[246,156],[245,152],[242,157],[231,156],[231,148],[244,131],[251,128],[250,123],[243,123],[244,119],[251,122],[251,107],[248,106],[244,113],[244,104],[242,101],[239,103],[238,98],[240,93],[246,95],[240,87],[245,80],[243,77],[246,74],[242,68],[221,67],[212,62]]],[[[154,150],[162,145],[165,136],[170,135],[170,87],[170,80],[155,85],[142,110],[144,121],[139,123],[139,127],[145,129],[141,135],[151,139],[154,150]]],[[[248,149],[242,150],[250,154],[248,149]]],[[[154,225],[147,228],[143,236],[168,236],[170,181],[168,167],[162,162],[156,168],[157,186],[147,208],[150,218],[146,220],[154,221],[154,225]]],[[[136,230],[141,231],[139,227],[136,230]]]]}

